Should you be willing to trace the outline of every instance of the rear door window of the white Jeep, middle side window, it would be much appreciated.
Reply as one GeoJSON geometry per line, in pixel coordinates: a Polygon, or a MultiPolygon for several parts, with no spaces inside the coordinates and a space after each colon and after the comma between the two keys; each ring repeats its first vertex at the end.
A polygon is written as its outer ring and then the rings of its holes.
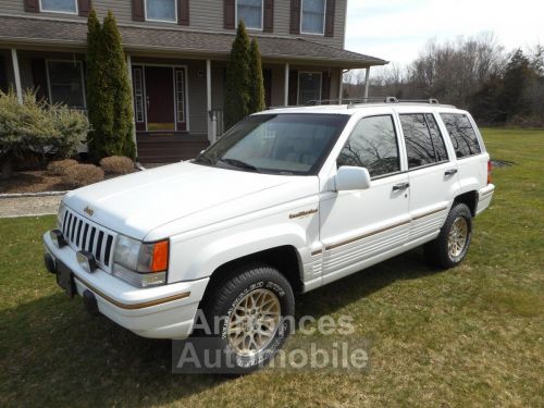
{"type": "Polygon", "coordinates": [[[401,114],[408,169],[447,161],[446,145],[430,113],[401,114]]]}

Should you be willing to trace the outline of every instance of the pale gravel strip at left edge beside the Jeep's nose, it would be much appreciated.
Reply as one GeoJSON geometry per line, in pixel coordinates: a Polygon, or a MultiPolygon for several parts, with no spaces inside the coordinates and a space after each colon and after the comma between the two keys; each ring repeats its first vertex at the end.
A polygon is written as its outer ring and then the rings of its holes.
{"type": "Polygon", "coordinates": [[[0,198],[0,218],[55,214],[62,196],[0,198]]]}

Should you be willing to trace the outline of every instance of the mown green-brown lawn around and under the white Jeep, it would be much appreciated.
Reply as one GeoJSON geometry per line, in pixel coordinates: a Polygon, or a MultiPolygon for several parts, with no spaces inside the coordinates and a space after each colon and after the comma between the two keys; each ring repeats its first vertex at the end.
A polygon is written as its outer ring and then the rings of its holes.
{"type": "Polygon", "coordinates": [[[171,374],[170,342],[57,288],[40,239],[53,217],[0,220],[0,406],[544,406],[544,132],[484,138],[516,164],[494,171],[459,268],[433,271],[413,250],[297,298],[298,316],[354,318],[369,374],[171,374]]]}

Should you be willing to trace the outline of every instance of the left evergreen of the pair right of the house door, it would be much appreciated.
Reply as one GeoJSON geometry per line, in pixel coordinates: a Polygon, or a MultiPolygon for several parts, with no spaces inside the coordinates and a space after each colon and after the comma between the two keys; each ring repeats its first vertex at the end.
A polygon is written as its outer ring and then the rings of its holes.
{"type": "Polygon", "coordinates": [[[234,126],[249,111],[250,44],[244,22],[240,21],[226,64],[225,128],[234,126]]]}

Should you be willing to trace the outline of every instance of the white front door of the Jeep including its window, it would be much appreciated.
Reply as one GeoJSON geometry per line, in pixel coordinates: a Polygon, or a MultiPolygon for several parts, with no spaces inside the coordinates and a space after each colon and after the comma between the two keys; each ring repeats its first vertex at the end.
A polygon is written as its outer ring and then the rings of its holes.
{"type": "Polygon", "coordinates": [[[366,190],[326,193],[321,199],[323,283],[403,246],[410,230],[408,174],[401,172],[392,114],[360,120],[338,156],[342,165],[366,168],[372,183],[366,190]]]}

